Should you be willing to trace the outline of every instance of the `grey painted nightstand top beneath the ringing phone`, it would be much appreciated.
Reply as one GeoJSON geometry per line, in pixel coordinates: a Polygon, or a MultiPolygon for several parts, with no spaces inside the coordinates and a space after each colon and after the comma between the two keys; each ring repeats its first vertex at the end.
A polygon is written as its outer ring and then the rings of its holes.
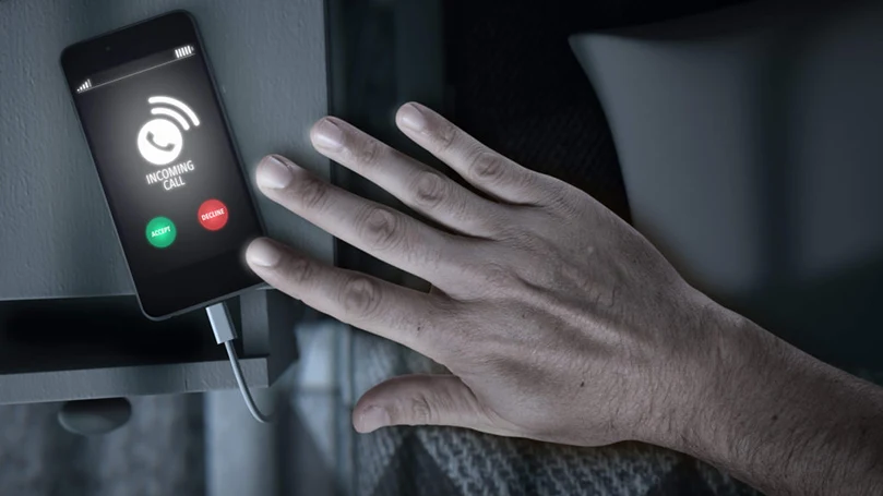
{"type": "MultiPolygon", "coordinates": [[[[307,136],[327,111],[321,0],[0,1],[0,301],[133,292],[58,59],[172,9],[200,24],[249,173],[283,153],[327,176],[307,136]]],[[[271,234],[332,259],[330,235],[260,207],[271,234]]]]}

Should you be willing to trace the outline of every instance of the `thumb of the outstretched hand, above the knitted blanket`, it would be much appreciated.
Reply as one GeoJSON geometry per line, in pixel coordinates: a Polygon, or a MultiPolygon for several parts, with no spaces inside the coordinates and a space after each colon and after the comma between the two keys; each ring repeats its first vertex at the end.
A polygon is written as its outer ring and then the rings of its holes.
{"type": "Polygon", "coordinates": [[[366,392],[353,411],[353,426],[369,433],[391,425],[452,425],[487,431],[487,414],[454,375],[405,375],[366,392]]]}

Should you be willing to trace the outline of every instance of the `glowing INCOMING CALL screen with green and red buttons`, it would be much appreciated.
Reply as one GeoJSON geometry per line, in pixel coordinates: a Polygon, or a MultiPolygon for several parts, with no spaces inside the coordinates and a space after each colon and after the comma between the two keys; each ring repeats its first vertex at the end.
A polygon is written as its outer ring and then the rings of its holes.
{"type": "Polygon", "coordinates": [[[196,48],[103,71],[74,92],[136,279],[239,251],[260,235],[196,48]]]}

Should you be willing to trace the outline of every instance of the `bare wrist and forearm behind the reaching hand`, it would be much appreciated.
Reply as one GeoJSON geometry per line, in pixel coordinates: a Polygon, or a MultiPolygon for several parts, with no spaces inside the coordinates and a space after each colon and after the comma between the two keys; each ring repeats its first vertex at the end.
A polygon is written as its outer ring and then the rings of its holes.
{"type": "Polygon", "coordinates": [[[702,309],[697,332],[712,339],[691,346],[694,387],[653,443],[771,494],[883,488],[879,389],[711,301],[702,309]]]}

